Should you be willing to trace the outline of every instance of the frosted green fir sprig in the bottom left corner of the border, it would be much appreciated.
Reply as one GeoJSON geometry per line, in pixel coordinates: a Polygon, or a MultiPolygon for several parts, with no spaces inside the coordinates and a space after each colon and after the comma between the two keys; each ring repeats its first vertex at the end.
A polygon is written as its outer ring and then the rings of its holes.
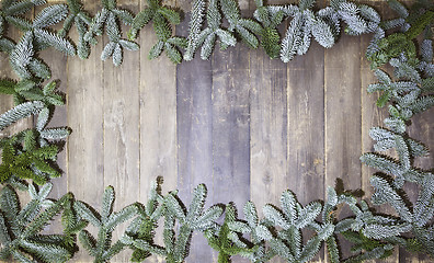
{"type": "Polygon", "coordinates": [[[37,192],[33,185],[28,185],[32,199],[23,209],[20,208],[18,195],[12,187],[4,186],[0,191],[2,260],[14,258],[21,262],[33,262],[32,259],[66,262],[72,256],[72,248],[65,242],[64,235],[41,233],[71,198],[70,194],[66,194],[56,202],[46,199],[50,188],[52,185],[47,184],[37,192]]]}

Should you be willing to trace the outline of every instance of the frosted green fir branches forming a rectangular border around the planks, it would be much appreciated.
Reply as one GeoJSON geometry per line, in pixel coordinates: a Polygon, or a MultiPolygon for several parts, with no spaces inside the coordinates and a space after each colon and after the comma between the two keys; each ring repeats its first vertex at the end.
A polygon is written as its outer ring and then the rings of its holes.
{"type": "Polygon", "coordinates": [[[94,262],[108,262],[124,249],[132,249],[132,261],[141,262],[151,254],[167,262],[183,262],[189,255],[192,233],[204,233],[208,244],[218,252],[218,262],[230,262],[232,255],[242,255],[252,262],[266,262],[274,256],[288,262],[307,262],[326,245],[330,262],[362,262],[385,259],[397,247],[411,252],[434,256],[434,175],[433,170],[415,167],[414,159],[429,153],[427,147],[407,133],[410,119],[434,105],[433,26],[434,3],[419,0],[409,10],[396,0],[389,5],[399,18],[381,21],[370,7],[346,0],[331,0],[330,7],[316,9],[315,0],[300,0],[288,5],[267,5],[256,0],[253,19],[240,14],[235,0],[194,0],[190,31],[186,38],[174,36],[172,25],[181,21],[180,12],[162,5],[160,0],[148,0],[147,7],[136,15],[117,7],[115,0],[102,0],[102,10],[91,16],[79,0],[67,4],[48,5],[33,19],[25,18],[34,5],[45,0],[2,0],[0,9],[0,52],[9,55],[10,65],[19,80],[10,76],[0,80],[0,92],[10,94],[15,106],[0,116],[0,130],[15,122],[35,116],[34,128],[0,138],[0,259],[21,262],[65,262],[81,247],[94,262]],[[288,20],[281,37],[277,30],[288,20]],[[222,25],[227,22],[227,26],[222,25]],[[376,140],[375,152],[361,157],[362,162],[377,169],[370,183],[375,193],[372,205],[390,205],[393,214],[380,214],[365,201],[355,198],[354,192],[342,186],[328,188],[328,197],[306,206],[286,191],[281,206],[262,207],[259,218],[252,202],[243,207],[244,219],[239,219],[236,206],[216,204],[204,209],[205,185],[198,185],[189,207],[176,191],[161,193],[161,179],[157,179],[147,204],[133,204],[113,211],[114,190],[108,186],[102,197],[101,211],[76,201],[71,193],[59,199],[47,199],[53,187],[50,179],[61,172],[56,165],[59,141],[65,141],[69,128],[47,128],[56,106],[64,96],[56,91],[49,67],[37,56],[48,47],[67,55],[88,58],[96,36],[106,34],[101,58],[112,57],[118,66],[123,52],[137,50],[135,43],[140,28],[151,23],[157,43],[149,52],[156,58],[163,52],[174,64],[191,60],[201,48],[201,58],[207,59],[218,42],[221,49],[239,41],[251,48],[262,47],[271,58],[289,61],[305,54],[312,39],[329,48],[338,41],[342,24],[344,33],[359,35],[373,33],[366,56],[379,82],[370,84],[368,92],[378,91],[378,106],[388,106],[385,127],[370,129],[376,140]],[[62,23],[58,32],[53,26],[62,23]],[[130,26],[127,38],[122,37],[121,23],[130,26]],[[23,34],[18,42],[8,37],[8,26],[23,34]],[[68,37],[75,27],[76,43],[68,37]],[[397,28],[391,34],[389,30],[397,28]],[[416,46],[416,38],[420,46],[416,46]],[[389,64],[395,78],[379,69],[389,64]],[[395,155],[393,151],[395,150],[395,155]],[[397,158],[392,157],[396,156],[397,158]],[[406,195],[403,185],[419,187],[415,203],[406,195]],[[21,206],[18,191],[27,191],[31,201],[21,206]],[[338,218],[338,209],[349,206],[352,216],[338,218]],[[43,229],[61,214],[62,232],[46,235],[43,229]],[[222,215],[224,219],[218,220],[222,215]],[[132,219],[132,220],[130,220],[132,219]],[[163,220],[163,244],[155,243],[156,229],[163,220]],[[129,225],[119,240],[112,243],[112,232],[122,222],[129,225]],[[217,224],[217,221],[222,221],[217,224]],[[93,237],[87,226],[98,229],[93,237]],[[302,237],[302,229],[315,235],[302,237]],[[338,237],[352,243],[353,253],[342,259],[338,237]]]}

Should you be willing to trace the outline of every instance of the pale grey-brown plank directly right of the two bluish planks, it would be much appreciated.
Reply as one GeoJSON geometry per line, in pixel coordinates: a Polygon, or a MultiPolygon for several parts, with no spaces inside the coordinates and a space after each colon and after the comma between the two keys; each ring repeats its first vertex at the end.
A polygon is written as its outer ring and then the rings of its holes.
{"type": "Polygon", "coordinates": [[[288,187],[287,173],[287,69],[262,49],[250,56],[250,195],[262,207],[278,204],[288,187]]]}

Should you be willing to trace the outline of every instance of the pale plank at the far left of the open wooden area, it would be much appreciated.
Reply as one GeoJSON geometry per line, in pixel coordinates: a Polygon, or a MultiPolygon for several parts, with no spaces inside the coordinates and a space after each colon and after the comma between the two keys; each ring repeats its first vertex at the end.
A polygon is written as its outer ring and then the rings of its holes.
{"type": "MultiPolygon", "coordinates": [[[[98,2],[87,2],[85,9],[95,13],[98,2]]],[[[77,39],[76,31],[71,38],[77,39]]],[[[68,58],[67,121],[72,129],[67,149],[68,191],[76,199],[83,201],[100,209],[104,191],[103,157],[103,65],[101,61],[102,41],[92,47],[87,60],[68,58]]],[[[90,228],[95,236],[95,229],[90,228]]],[[[80,245],[73,261],[91,262],[87,251],[80,245]]]]}

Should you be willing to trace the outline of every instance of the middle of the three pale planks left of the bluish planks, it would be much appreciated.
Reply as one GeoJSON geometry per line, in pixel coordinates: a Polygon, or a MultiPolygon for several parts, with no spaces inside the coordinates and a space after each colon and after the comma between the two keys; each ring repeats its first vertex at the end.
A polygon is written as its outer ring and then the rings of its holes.
{"type": "MultiPolygon", "coordinates": [[[[118,1],[118,5],[133,13],[138,4],[118,1]]],[[[121,22],[122,23],[122,22],[121,22]]],[[[126,37],[129,27],[122,26],[126,37]]],[[[104,45],[108,39],[104,38],[104,45]]],[[[103,64],[103,130],[104,130],[104,187],[115,188],[114,210],[130,205],[139,198],[140,160],[140,105],[139,80],[140,56],[138,52],[123,50],[123,64],[114,66],[112,58],[103,64]]],[[[126,224],[113,232],[112,242],[124,233],[126,224]]],[[[132,251],[124,250],[113,258],[113,262],[128,262],[132,251]]]]}

